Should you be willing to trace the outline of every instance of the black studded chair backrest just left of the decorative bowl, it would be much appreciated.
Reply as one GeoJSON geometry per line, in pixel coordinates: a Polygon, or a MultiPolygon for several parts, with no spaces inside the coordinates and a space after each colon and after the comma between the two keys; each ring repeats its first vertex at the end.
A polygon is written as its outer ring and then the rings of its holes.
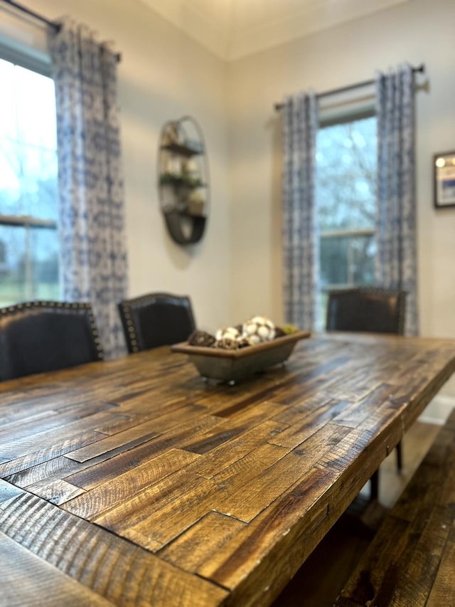
{"type": "Polygon", "coordinates": [[[130,353],[184,342],[196,329],[186,295],[149,293],[122,300],[119,313],[130,353]]]}

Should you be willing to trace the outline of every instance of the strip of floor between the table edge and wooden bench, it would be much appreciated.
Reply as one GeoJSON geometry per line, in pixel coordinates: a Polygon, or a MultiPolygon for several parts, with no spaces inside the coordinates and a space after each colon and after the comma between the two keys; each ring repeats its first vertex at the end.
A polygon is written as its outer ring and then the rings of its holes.
{"type": "Polygon", "coordinates": [[[272,607],[332,607],[333,601],[368,547],[375,529],[400,496],[427,453],[439,426],[416,422],[402,441],[402,473],[397,473],[395,452],[380,468],[379,503],[369,504],[365,485],[359,499],[297,571],[272,607]]]}

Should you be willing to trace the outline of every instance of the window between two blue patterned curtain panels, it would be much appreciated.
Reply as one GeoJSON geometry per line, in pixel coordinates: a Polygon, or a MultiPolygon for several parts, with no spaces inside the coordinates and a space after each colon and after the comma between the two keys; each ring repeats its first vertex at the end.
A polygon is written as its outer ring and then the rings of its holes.
{"type": "Polygon", "coordinates": [[[377,121],[362,115],[322,124],[316,201],[325,317],[328,290],[375,282],[377,121]]]}

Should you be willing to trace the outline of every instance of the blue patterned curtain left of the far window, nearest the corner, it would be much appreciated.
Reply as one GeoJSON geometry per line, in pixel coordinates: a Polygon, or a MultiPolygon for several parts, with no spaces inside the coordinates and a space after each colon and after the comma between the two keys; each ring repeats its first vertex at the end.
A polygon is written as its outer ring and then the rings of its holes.
{"type": "Polygon", "coordinates": [[[319,228],[315,204],[317,100],[288,97],[283,110],[285,322],[319,328],[319,228]]]}

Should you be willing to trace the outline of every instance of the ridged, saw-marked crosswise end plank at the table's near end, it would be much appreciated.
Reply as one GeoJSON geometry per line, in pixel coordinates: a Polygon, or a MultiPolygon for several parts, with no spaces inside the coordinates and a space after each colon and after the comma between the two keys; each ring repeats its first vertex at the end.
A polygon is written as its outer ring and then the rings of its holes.
{"type": "MultiPolygon", "coordinates": [[[[206,607],[222,603],[227,595],[39,497],[24,494],[0,503],[0,528],[30,554],[79,582],[82,592],[88,588],[115,605],[206,607]]],[[[63,588],[60,596],[65,597],[63,588]]]]}

